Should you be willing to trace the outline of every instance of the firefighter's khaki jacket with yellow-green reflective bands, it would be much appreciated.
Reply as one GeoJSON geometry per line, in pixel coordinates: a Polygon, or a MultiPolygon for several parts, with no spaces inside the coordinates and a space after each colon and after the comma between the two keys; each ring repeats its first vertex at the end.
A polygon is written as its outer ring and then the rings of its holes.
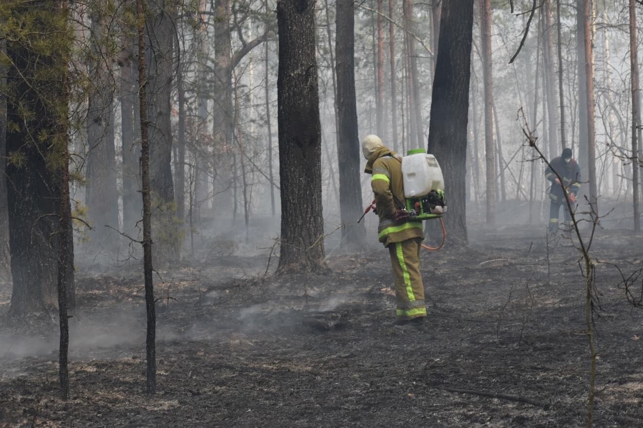
{"type": "Polygon", "coordinates": [[[372,174],[370,185],[375,194],[379,227],[377,237],[384,246],[412,238],[424,239],[422,221],[395,221],[396,209],[404,208],[402,157],[379,148],[368,158],[365,173],[372,174]]]}

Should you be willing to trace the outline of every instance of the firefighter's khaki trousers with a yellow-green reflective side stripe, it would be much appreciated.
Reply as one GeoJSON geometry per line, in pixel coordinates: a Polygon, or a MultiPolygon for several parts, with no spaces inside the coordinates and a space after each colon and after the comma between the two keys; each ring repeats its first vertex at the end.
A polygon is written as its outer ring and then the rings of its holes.
{"type": "Polygon", "coordinates": [[[388,244],[395,282],[395,313],[400,320],[426,316],[424,284],[420,274],[420,248],[422,238],[388,244]]]}

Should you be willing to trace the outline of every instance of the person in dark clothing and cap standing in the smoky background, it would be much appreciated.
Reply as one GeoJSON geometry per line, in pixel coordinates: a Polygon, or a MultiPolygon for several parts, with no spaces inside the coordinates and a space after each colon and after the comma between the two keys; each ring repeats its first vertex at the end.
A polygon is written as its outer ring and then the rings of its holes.
{"type": "Polygon", "coordinates": [[[552,184],[549,191],[551,200],[549,206],[549,234],[555,235],[558,232],[558,213],[561,205],[565,210],[565,223],[563,223],[565,230],[572,230],[574,221],[572,221],[572,216],[565,201],[565,192],[568,194],[573,208],[576,195],[581,189],[581,168],[578,166],[578,162],[572,158],[572,149],[564,149],[562,155],[549,162],[549,166],[545,169],[545,178],[552,184]],[[563,179],[562,183],[554,174],[554,171],[563,179]]]}

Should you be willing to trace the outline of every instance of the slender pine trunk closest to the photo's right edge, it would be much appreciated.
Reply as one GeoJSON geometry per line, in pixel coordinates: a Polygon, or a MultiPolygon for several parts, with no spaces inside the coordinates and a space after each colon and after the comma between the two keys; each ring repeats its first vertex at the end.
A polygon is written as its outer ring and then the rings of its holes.
{"type": "Polygon", "coordinates": [[[640,166],[638,164],[638,141],[637,133],[641,124],[640,119],[640,96],[638,91],[639,74],[638,74],[638,49],[637,49],[637,10],[635,0],[629,0],[629,67],[631,74],[631,91],[632,91],[632,202],[634,205],[634,231],[640,232],[640,202],[638,200],[638,174],[640,166]]]}

